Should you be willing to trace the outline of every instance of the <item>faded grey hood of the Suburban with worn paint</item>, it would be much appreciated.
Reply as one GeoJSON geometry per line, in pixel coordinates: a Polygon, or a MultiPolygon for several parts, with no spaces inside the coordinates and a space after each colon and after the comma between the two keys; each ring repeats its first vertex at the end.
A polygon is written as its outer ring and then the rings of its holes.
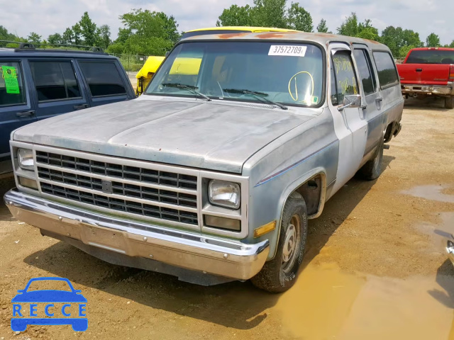
{"type": "Polygon", "coordinates": [[[311,118],[260,106],[133,100],[40,120],[13,139],[240,173],[255,152],[311,118]]]}

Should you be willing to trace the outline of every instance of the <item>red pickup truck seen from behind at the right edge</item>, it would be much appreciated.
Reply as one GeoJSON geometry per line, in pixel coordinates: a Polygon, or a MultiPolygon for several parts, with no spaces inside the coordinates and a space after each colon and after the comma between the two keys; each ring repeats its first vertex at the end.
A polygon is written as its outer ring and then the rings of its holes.
{"type": "Polygon", "coordinates": [[[406,98],[444,97],[445,108],[454,108],[454,48],[414,48],[397,71],[406,98]]]}

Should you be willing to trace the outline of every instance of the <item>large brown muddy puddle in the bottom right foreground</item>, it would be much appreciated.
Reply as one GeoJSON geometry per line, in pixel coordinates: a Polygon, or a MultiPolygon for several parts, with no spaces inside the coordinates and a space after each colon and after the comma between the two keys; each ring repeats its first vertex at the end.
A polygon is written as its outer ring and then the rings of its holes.
{"type": "Polygon", "coordinates": [[[406,280],[307,266],[279,297],[282,327],[297,339],[454,339],[454,278],[406,280]]]}

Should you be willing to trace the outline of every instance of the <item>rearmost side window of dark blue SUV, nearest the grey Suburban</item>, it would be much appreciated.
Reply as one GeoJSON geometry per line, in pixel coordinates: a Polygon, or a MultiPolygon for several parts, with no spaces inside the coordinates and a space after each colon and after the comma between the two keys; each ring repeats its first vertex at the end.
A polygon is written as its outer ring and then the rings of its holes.
{"type": "Polygon", "coordinates": [[[126,89],[113,62],[79,62],[92,96],[126,94],[126,89]]]}

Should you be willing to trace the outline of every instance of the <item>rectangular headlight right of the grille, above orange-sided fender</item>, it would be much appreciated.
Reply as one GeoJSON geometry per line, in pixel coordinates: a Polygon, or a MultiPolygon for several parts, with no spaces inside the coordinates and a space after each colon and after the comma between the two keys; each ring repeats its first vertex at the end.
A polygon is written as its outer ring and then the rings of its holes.
{"type": "Polygon", "coordinates": [[[208,196],[211,204],[231,209],[240,208],[241,191],[237,183],[213,179],[209,183],[208,196]]]}

